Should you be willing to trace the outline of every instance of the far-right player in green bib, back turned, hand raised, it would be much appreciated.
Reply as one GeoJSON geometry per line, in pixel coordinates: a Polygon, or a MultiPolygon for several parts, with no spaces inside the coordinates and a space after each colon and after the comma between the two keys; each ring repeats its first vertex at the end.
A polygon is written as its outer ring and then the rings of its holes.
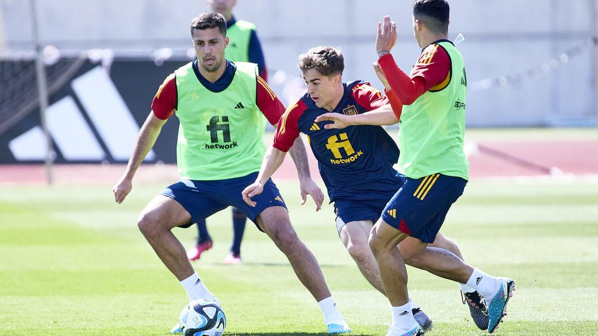
{"type": "MultiPolygon", "coordinates": [[[[399,172],[402,187],[386,205],[370,233],[370,248],[392,306],[388,335],[421,335],[411,314],[405,260],[420,268],[465,283],[485,299],[488,332],[502,322],[515,282],[494,277],[463,262],[453,253],[431,248],[451,204],[463,193],[469,163],[463,153],[467,77],[462,55],[447,39],[449,5],[445,0],[417,0],[413,6],[414,36],[422,47],[410,75],[396,66],[390,50],[396,26],[387,16],[378,26],[376,50],[380,68],[404,106],[395,113],[359,115],[329,113],[316,121],[331,120],[327,127],[384,125],[399,122],[401,148],[399,172]],[[420,20],[422,19],[422,20],[420,20]],[[426,21],[427,20],[427,21],[426,21]],[[437,29],[445,26],[446,29],[437,29]],[[431,27],[431,28],[430,28],[431,27]],[[400,243],[400,251],[395,246],[400,243]]],[[[482,304],[484,304],[482,302],[482,304]]]]}

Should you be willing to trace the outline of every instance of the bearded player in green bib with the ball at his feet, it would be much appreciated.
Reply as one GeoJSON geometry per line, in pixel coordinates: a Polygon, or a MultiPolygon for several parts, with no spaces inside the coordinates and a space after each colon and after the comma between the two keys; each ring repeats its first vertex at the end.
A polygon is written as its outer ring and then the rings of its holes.
{"type": "MultiPolygon", "coordinates": [[[[267,120],[276,125],[284,106],[258,75],[253,63],[225,59],[226,23],[218,13],[202,13],[191,22],[197,59],[164,80],[141,128],[126,172],[114,187],[121,203],[161,127],[176,112],[180,121],[177,165],[181,180],[155,196],[139,215],[138,227],[166,267],[181,282],[190,301],[216,301],[200,280],[172,228],[190,227],[228,206],[236,206],[285,253],[295,274],[318,301],[330,333],[350,331],[324,280],[313,253],[297,237],[286,205],[271,179],[250,207],[241,193],[255,181],[266,148],[267,120]]],[[[303,142],[292,149],[303,197],[321,206],[324,195],[309,175],[303,142]]],[[[218,302],[218,301],[216,301],[218,302]]],[[[171,332],[180,332],[176,325],[171,332]]]]}

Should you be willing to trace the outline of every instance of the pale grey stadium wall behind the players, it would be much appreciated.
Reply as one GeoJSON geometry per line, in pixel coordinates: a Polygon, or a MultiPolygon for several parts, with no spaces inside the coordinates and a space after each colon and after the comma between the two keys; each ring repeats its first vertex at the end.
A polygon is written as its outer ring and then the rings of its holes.
{"type": "MultiPolygon", "coordinates": [[[[450,38],[466,60],[470,127],[592,126],[596,123],[591,71],[593,35],[588,1],[451,1],[450,38]],[[572,19],[575,18],[575,19],[572,19]]],[[[188,25],[206,10],[200,0],[38,1],[41,39],[63,54],[109,48],[115,55],[148,59],[171,48],[186,59],[188,25]]],[[[0,2],[5,13],[5,51],[30,49],[29,1],[0,2]]],[[[398,25],[393,50],[403,69],[419,53],[411,32],[411,1],[239,0],[237,17],[258,25],[270,82],[297,82],[297,55],[330,44],[346,56],[346,80],[364,79],[380,88],[371,62],[376,59],[376,23],[390,14],[398,25]],[[276,74],[278,72],[278,74],[276,74]]],[[[287,90],[289,96],[297,91],[287,90]],[[290,93],[289,93],[290,92],[290,93]]],[[[128,93],[122,92],[124,96],[128,93]]]]}

